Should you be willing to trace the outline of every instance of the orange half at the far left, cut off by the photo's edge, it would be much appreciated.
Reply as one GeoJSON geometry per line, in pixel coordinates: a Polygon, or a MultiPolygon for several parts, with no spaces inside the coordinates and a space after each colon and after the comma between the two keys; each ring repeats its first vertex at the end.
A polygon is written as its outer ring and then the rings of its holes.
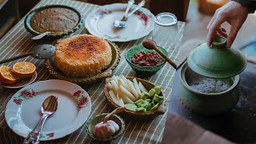
{"type": "Polygon", "coordinates": [[[0,66],[0,82],[9,85],[17,82],[17,76],[9,66],[0,66]]]}

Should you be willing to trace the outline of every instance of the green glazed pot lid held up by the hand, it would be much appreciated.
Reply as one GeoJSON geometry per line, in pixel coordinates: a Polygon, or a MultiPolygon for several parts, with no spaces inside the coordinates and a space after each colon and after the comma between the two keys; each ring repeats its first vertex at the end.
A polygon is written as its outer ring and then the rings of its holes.
{"type": "Polygon", "coordinates": [[[238,49],[226,48],[226,38],[215,36],[212,46],[206,43],[187,58],[191,70],[209,78],[230,78],[246,68],[246,58],[238,49]]]}

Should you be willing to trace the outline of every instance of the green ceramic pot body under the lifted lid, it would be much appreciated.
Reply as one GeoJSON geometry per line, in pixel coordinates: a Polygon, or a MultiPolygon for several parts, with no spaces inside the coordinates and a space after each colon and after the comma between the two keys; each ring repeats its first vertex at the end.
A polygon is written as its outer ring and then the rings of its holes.
{"type": "Polygon", "coordinates": [[[186,108],[198,113],[205,115],[216,115],[226,113],[234,108],[238,102],[240,93],[238,90],[239,75],[233,78],[226,78],[226,80],[233,84],[229,89],[216,93],[216,94],[205,94],[192,89],[187,80],[190,77],[203,77],[202,75],[196,74],[187,63],[184,63],[180,72],[180,101],[186,108]]]}

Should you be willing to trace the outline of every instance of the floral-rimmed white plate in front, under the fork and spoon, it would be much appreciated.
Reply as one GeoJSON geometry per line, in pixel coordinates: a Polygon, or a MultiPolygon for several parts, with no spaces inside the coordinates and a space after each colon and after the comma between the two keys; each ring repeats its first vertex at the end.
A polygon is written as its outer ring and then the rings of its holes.
{"type": "Polygon", "coordinates": [[[42,102],[58,97],[58,110],[47,118],[41,141],[62,138],[78,130],[90,115],[90,97],[80,86],[57,79],[34,82],[18,90],[6,106],[6,122],[10,129],[24,138],[41,117],[42,102]]]}

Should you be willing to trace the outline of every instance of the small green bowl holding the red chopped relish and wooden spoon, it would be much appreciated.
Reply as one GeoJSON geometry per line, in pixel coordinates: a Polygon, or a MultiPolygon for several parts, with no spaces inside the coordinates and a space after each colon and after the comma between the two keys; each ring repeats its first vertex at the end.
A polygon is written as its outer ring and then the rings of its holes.
{"type": "MultiPolygon", "coordinates": [[[[163,54],[167,55],[166,50],[164,50],[162,47],[158,46],[158,49],[161,50],[163,52],[163,54]]],[[[136,45],[136,46],[131,47],[129,50],[127,50],[127,52],[126,52],[126,61],[130,65],[130,67],[132,69],[134,69],[138,74],[143,75],[143,76],[150,76],[152,74],[155,74],[158,70],[160,70],[166,64],[166,60],[164,60],[158,66],[138,66],[138,65],[135,65],[134,63],[131,62],[131,58],[134,56],[134,54],[138,54],[141,51],[143,51],[144,53],[152,52],[152,51],[157,53],[155,50],[148,50],[142,45],[136,45]]]]}

